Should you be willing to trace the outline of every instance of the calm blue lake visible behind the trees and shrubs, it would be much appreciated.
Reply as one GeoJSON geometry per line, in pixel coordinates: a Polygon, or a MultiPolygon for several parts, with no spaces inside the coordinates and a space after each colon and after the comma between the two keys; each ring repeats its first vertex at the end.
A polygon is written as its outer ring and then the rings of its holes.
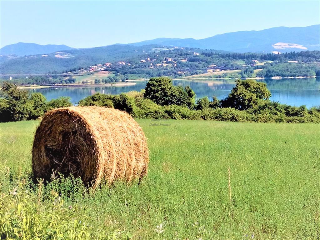
{"type": "MultiPolygon", "coordinates": [[[[320,105],[320,78],[283,78],[283,79],[264,79],[272,96],[270,100],[293,106],[306,105],[308,108],[320,105]]],[[[120,94],[122,92],[140,91],[144,89],[147,81],[136,81],[134,85],[127,86],[106,86],[106,87],[59,87],[30,89],[30,92],[41,92],[48,100],[58,97],[70,97],[76,104],[86,96],[97,92],[105,94],[120,94]]],[[[231,89],[235,86],[234,80],[172,80],[175,86],[189,85],[196,93],[197,98],[205,96],[212,99],[216,96],[223,99],[228,96],[231,89]]]]}

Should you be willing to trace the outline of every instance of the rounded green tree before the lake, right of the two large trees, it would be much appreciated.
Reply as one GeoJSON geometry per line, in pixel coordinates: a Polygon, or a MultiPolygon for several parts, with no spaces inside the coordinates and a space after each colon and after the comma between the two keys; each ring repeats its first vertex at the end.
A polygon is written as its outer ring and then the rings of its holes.
{"type": "Polygon", "coordinates": [[[257,106],[261,101],[268,100],[270,97],[271,93],[267,88],[267,84],[253,79],[239,79],[228,97],[221,101],[221,105],[222,107],[246,110],[257,106]]]}

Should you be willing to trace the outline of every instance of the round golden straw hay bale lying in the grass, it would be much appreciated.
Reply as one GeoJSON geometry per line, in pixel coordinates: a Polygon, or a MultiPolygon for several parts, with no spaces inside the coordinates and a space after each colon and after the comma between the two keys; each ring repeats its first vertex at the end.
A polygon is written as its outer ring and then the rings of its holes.
{"type": "Polygon", "coordinates": [[[101,179],[130,182],[147,174],[148,162],[141,127],[113,108],[54,109],[43,117],[33,142],[32,170],[45,180],[60,172],[93,187],[101,179]]]}

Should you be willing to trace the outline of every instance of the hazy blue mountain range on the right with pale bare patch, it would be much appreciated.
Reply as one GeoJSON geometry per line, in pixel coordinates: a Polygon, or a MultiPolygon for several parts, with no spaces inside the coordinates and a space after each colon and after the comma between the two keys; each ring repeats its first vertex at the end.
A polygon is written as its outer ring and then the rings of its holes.
{"type": "Polygon", "coordinates": [[[165,46],[196,47],[230,52],[291,52],[319,50],[320,25],[308,27],[277,27],[261,31],[239,31],[204,39],[156,38],[132,45],[162,44],[165,46]]]}

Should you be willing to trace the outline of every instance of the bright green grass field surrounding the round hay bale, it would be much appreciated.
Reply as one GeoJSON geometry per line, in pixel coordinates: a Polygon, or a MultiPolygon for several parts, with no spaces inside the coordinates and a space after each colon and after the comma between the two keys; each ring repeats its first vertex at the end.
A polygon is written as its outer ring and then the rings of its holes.
{"type": "Polygon", "coordinates": [[[32,202],[37,216],[58,212],[52,229],[84,224],[83,239],[115,229],[132,239],[319,239],[318,124],[137,121],[148,138],[148,177],[139,186],[116,182],[90,194],[65,184],[72,194],[60,191],[59,206],[41,186],[24,184],[39,122],[0,124],[0,213],[19,218],[15,204],[32,202]],[[62,220],[68,208],[73,215],[62,220]]]}

